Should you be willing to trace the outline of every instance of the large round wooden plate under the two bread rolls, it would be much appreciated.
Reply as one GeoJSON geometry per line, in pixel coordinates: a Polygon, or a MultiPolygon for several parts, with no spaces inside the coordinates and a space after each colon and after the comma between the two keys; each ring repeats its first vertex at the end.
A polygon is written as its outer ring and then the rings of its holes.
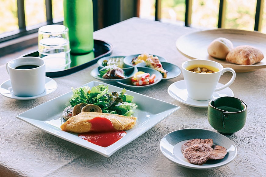
{"type": "Polygon", "coordinates": [[[266,68],[266,34],[238,29],[213,29],[189,33],[179,37],[176,41],[177,49],[190,59],[204,59],[216,61],[223,67],[233,68],[236,72],[249,72],[266,68]],[[264,59],[253,65],[238,65],[209,56],[207,47],[218,37],[225,37],[232,41],[234,47],[250,45],[257,47],[264,54],[264,59]]]}

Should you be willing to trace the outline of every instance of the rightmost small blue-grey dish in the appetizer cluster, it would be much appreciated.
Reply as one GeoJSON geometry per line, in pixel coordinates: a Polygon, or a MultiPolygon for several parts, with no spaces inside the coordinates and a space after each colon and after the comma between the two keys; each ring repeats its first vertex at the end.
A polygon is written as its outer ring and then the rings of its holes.
{"type": "MultiPolygon", "coordinates": [[[[163,80],[176,78],[177,76],[179,76],[181,74],[181,69],[178,66],[176,66],[175,64],[161,61],[161,65],[166,71],[168,71],[167,77],[162,78],[163,80]]],[[[136,66],[146,67],[146,63],[142,62],[142,63],[136,64],[136,66]]]]}

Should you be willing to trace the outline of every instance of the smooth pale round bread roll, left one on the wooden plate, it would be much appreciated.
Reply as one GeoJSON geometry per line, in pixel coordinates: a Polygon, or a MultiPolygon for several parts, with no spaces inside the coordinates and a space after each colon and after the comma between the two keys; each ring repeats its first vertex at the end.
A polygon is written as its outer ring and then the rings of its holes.
{"type": "Polygon", "coordinates": [[[233,48],[233,43],[229,39],[219,37],[210,43],[207,51],[210,56],[225,60],[226,55],[233,48]]]}

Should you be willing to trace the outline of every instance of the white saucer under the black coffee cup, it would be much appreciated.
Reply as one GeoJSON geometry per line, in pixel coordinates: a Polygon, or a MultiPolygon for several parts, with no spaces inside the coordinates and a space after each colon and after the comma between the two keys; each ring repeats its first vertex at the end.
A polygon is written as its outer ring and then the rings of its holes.
{"type": "Polygon", "coordinates": [[[54,79],[51,79],[49,77],[45,77],[45,90],[42,94],[36,95],[36,96],[31,96],[31,97],[20,97],[16,96],[13,94],[12,87],[11,87],[11,82],[10,80],[7,80],[3,82],[0,86],[0,93],[1,95],[12,98],[12,99],[36,99],[39,97],[43,97],[46,95],[49,95],[50,93],[54,92],[57,88],[57,83],[55,82],[54,79]]]}

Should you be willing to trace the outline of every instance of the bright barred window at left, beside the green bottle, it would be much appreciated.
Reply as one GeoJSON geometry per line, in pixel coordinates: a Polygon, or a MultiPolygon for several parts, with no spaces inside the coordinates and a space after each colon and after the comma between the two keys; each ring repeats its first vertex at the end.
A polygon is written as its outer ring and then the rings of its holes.
{"type": "Polygon", "coordinates": [[[0,0],[0,3],[0,42],[63,21],[63,0],[0,0]]]}

